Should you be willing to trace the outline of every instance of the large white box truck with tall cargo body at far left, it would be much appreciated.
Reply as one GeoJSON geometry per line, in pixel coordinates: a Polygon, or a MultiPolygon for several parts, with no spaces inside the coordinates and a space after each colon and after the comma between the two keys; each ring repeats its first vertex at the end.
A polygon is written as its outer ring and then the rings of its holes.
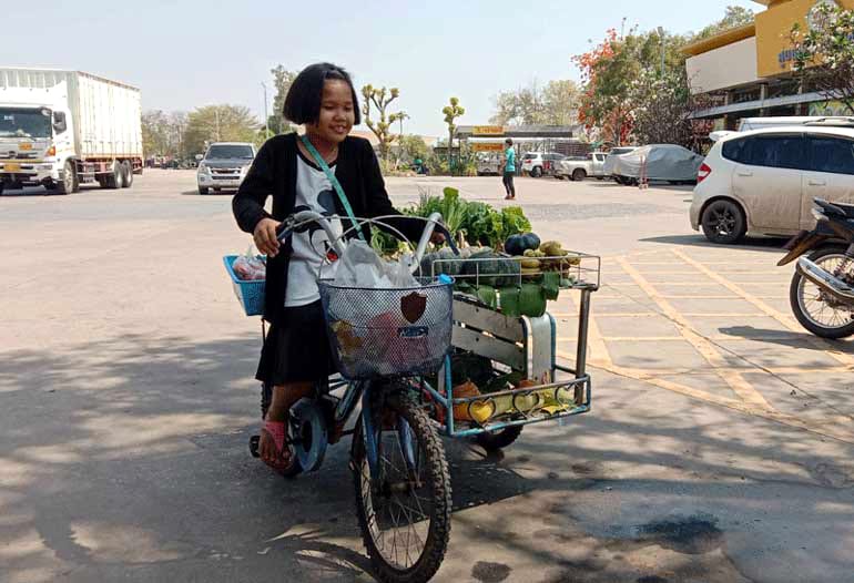
{"type": "Polygon", "coordinates": [[[142,161],[140,90],[79,71],[0,68],[0,193],[124,188],[142,161]]]}

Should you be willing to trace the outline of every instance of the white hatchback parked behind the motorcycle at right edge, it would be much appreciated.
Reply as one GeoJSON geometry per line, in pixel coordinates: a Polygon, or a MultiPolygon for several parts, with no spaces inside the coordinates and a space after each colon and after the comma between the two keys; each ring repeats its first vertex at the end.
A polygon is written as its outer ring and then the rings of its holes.
{"type": "Polygon", "coordinates": [[[854,121],[726,135],[697,180],[691,226],[713,243],[811,229],[813,198],[854,203],[854,121]]]}

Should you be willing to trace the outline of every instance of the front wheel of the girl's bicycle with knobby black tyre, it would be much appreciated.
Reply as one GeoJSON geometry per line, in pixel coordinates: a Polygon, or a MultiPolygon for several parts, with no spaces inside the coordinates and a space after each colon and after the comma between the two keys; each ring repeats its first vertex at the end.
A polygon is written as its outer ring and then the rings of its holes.
{"type": "Polygon", "coordinates": [[[356,513],[372,565],[387,583],[429,581],[450,538],[450,473],[441,440],[405,392],[389,398],[374,433],[375,474],[362,421],[352,450],[356,513]]]}

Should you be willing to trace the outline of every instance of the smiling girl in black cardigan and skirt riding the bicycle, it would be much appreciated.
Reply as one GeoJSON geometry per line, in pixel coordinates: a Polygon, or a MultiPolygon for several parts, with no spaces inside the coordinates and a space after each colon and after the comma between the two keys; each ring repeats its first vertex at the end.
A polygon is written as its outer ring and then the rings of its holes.
{"type": "MultiPolygon", "coordinates": [[[[307,67],[291,85],[283,113],[292,122],[305,125],[305,135],[292,133],[268,140],[258,151],[232,207],[237,225],[252,233],[257,248],[267,255],[264,319],[271,328],[255,378],[273,386],[273,399],[258,450],[264,462],[285,473],[294,460],[286,442],[288,410],[301,398],[311,396],[315,385],[328,378],[335,368],[315,282],[329,250],[326,233],[312,225],[279,244],[276,228],[285,217],[301,209],[344,217],[333,219],[338,234],[350,227],[338,194],[304,140],[334,172],[355,216],[399,213],[388,200],[370,143],[347,135],[354,124],[360,123],[360,116],[356,90],[344,69],[331,63],[307,67]],[[268,195],[273,196],[272,214],[264,211],[268,195]]],[[[390,224],[411,241],[420,236],[424,227],[417,219],[403,217],[390,224]]],[[[434,241],[441,241],[441,236],[434,241]]]]}

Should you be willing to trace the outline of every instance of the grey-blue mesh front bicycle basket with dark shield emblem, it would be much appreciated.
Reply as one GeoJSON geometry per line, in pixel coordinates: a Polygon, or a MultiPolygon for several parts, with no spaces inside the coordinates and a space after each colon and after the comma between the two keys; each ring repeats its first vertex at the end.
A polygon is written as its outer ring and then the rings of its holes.
{"type": "Polygon", "coordinates": [[[317,286],[344,378],[433,375],[441,367],[450,350],[453,284],[369,289],[321,280],[317,286]]]}

